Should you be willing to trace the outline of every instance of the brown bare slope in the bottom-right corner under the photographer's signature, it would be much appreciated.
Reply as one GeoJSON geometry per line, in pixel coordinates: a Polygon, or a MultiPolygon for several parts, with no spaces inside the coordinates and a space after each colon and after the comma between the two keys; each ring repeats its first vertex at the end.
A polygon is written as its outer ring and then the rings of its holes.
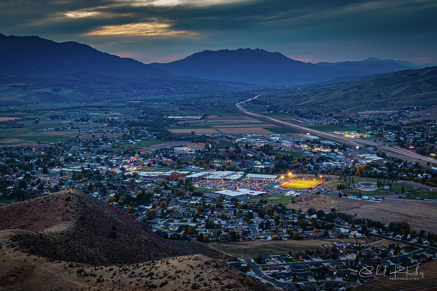
{"type": "MultiPolygon", "coordinates": [[[[414,272],[414,271],[416,271],[416,267],[413,267],[412,270],[408,269],[408,272],[414,272]]],[[[423,278],[421,276],[418,276],[419,280],[390,280],[390,278],[394,277],[394,275],[387,275],[385,278],[377,279],[365,285],[359,286],[355,290],[356,291],[368,291],[368,290],[395,291],[395,290],[408,290],[407,288],[413,288],[410,290],[431,291],[437,289],[437,286],[428,287],[428,289],[426,289],[425,287],[420,287],[429,284],[436,284],[436,277],[437,277],[436,260],[432,260],[421,264],[419,266],[418,272],[423,272],[423,278]]],[[[414,277],[414,275],[410,275],[409,277],[411,276],[414,277]]],[[[396,277],[405,277],[405,274],[398,274],[396,275],[396,277]]]]}

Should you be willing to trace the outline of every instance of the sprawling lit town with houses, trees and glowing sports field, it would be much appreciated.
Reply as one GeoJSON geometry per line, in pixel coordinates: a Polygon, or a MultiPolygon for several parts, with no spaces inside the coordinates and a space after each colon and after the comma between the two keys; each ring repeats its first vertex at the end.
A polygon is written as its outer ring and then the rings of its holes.
{"type": "Polygon", "coordinates": [[[80,189],[164,239],[210,244],[284,290],[343,290],[368,282],[377,266],[392,274],[436,257],[434,216],[387,223],[347,211],[358,202],[436,203],[432,166],[304,132],[190,132],[142,144],[165,133],[108,121],[112,131],[88,129],[88,138],[3,147],[0,203],[80,189]],[[320,198],[329,204],[308,204],[320,198]],[[260,252],[240,255],[252,242],[260,252]]]}

